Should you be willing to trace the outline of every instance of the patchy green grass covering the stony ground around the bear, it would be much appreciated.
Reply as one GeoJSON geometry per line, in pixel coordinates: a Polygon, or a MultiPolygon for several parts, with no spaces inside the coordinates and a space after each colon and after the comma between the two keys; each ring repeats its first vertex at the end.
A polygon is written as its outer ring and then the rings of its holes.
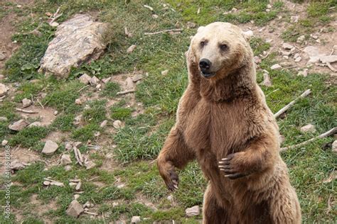
{"type": "MultiPolygon", "coordinates": [[[[299,23],[289,26],[282,38],[296,41],[302,34],[309,38],[316,26],[333,21],[330,13],[333,10],[328,9],[333,2],[335,1],[319,4],[316,1],[311,2],[307,9],[308,17],[301,18],[299,23]]],[[[188,21],[196,23],[197,27],[213,21],[255,21],[258,26],[263,26],[279,14],[287,13],[282,1],[275,1],[270,11],[266,11],[267,4],[268,1],[228,0],[193,3],[188,0],[169,0],[166,3],[136,0],[129,1],[128,4],[115,0],[50,0],[36,1],[29,6],[23,6],[22,9],[17,9],[16,4],[1,4],[6,5],[8,11],[3,11],[0,7],[0,18],[4,18],[7,13],[16,13],[22,18],[22,22],[16,23],[19,32],[13,37],[21,47],[6,62],[4,70],[8,77],[6,82],[18,82],[18,91],[13,100],[5,99],[1,102],[0,116],[5,116],[8,121],[0,121],[0,139],[8,139],[11,146],[21,144],[21,147],[31,147],[32,150],[39,151],[43,147],[41,139],[53,131],[62,131],[69,136],[69,140],[82,141],[82,155],[97,164],[92,169],[75,164],[73,152],[65,152],[64,144],[60,143],[58,151],[70,154],[73,161],[70,171],[65,171],[64,167],[58,164],[46,166],[43,162],[35,162],[16,172],[12,176],[12,206],[24,218],[17,220],[12,215],[11,223],[41,223],[46,219],[53,220],[54,223],[105,223],[119,219],[129,222],[133,215],[140,215],[142,223],[172,219],[177,223],[198,223],[200,216],[185,216],[186,208],[201,205],[203,201],[207,182],[198,164],[192,162],[186,169],[178,171],[180,186],[178,191],[171,193],[167,191],[156,164],[152,162],[175,122],[178,100],[188,83],[184,52],[188,49],[189,36],[196,33],[196,28],[184,29],[179,35],[164,33],[148,36],[144,33],[166,28],[185,28],[188,21]],[[144,8],[144,4],[153,7],[154,11],[144,8]],[[163,4],[167,6],[164,7],[163,4]],[[71,69],[70,77],[65,80],[43,77],[37,72],[39,60],[48,42],[53,38],[55,28],[42,23],[38,29],[41,36],[23,34],[36,28],[41,21],[46,21],[45,13],[53,13],[58,7],[63,12],[58,22],[65,21],[79,11],[89,11],[100,21],[109,23],[109,29],[113,30],[106,37],[109,44],[105,54],[90,64],[71,69]],[[223,14],[233,7],[238,10],[236,13],[223,14]],[[28,16],[30,13],[33,15],[28,16]],[[159,18],[153,18],[153,13],[159,18]],[[125,37],[124,27],[133,34],[131,38],[125,37]],[[131,54],[127,54],[127,48],[133,44],[137,45],[137,48],[131,54]],[[161,75],[161,71],[166,69],[169,69],[169,73],[161,75]],[[129,74],[134,70],[149,74],[137,84],[135,94],[137,103],[144,107],[144,113],[132,116],[136,106],[130,106],[129,97],[116,96],[121,89],[115,82],[102,86],[102,91],[95,90],[95,94],[100,96],[99,99],[87,101],[84,105],[75,104],[75,99],[94,96],[94,88],[89,86],[82,89],[84,85],[77,81],[77,77],[83,72],[100,79],[112,77],[113,80],[114,74],[129,74]],[[38,81],[31,82],[31,79],[38,81]],[[40,98],[42,93],[46,94],[44,99],[40,98]],[[53,124],[48,127],[25,128],[17,133],[11,132],[8,125],[20,118],[14,110],[20,106],[23,98],[41,99],[44,106],[57,110],[58,116],[53,124]],[[114,103],[115,101],[117,103],[114,103]],[[75,116],[80,114],[83,122],[74,125],[75,116]],[[123,121],[124,128],[112,129],[109,118],[123,121]],[[109,123],[107,127],[100,128],[100,123],[104,120],[108,120],[109,123]],[[95,136],[97,132],[100,132],[100,137],[95,136]],[[91,141],[90,145],[85,144],[88,140],[91,141]],[[114,162],[109,159],[109,155],[113,156],[114,162]],[[43,186],[45,177],[62,181],[65,187],[43,186]],[[101,215],[94,219],[88,215],[80,215],[80,218],[75,219],[65,214],[76,192],[69,186],[69,179],[75,178],[82,180],[81,191],[84,191],[78,201],[82,204],[86,201],[94,203],[95,212],[104,213],[105,220],[101,215]],[[124,187],[119,188],[118,184],[124,184],[124,187]],[[40,205],[34,207],[31,204],[34,194],[38,195],[41,206],[55,203],[56,208],[36,214],[36,208],[40,205]],[[170,194],[174,198],[174,204],[167,199],[170,194]],[[113,207],[112,203],[118,205],[113,207]],[[158,210],[154,210],[151,205],[156,206],[158,210]]],[[[250,45],[255,55],[260,55],[271,47],[262,38],[252,38],[250,45]]],[[[271,53],[260,63],[261,69],[267,69],[272,78],[273,86],[262,86],[262,90],[273,112],[278,111],[304,90],[312,90],[311,95],[296,103],[278,120],[280,133],[286,139],[282,146],[314,137],[316,134],[303,134],[299,130],[308,123],[315,125],[317,133],[335,127],[336,119],[333,118],[336,117],[336,86],[326,85],[330,82],[330,77],[326,74],[297,77],[290,70],[270,70],[270,66],[276,62],[275,53],[271,53]]],[[[257,81],[262,81],[261,72],[257,72],[257,81]]],[[[282,158],[289,167],[291,184],[300,199],[304,223],[331,223],[336,217],[335,211],[326,214],[328,198],[336,194],[334,182],[323,182],[336,169],[336,155],[321,147],[324,142],[332,140],[333,138],[316,140],[304,147],[282,153],[282,158]]],[[[47,157],[43,159],[50,161],[47,157]]],[[[57,160],[53,164],[56,162],[57,160]]],[[[0,202],[4,203],[4,191],[0,191],[0,202]]],[[[5,223],[1,218],[0,223],[5,223]]]]}

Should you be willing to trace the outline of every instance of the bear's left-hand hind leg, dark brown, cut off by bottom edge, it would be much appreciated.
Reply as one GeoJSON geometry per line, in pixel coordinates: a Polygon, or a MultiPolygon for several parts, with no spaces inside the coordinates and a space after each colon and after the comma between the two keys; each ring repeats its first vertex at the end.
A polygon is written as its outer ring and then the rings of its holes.
{"type": "Polygon", "coordinates": [[[228,213],[218,205],[217,199],[208,185],[203,196],[203,224],[229,223],[228,213]]]}

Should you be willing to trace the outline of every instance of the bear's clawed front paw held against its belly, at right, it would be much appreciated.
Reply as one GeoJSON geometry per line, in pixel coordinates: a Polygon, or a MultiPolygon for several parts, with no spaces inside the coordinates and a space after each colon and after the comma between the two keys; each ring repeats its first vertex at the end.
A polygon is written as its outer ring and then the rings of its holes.
{"type": "Polygon", "coordinates": [[[240,159],[241,153],[242,152],[232,153],[221,159],[218,167],[221,171],[225,172],[225,177],[228,177],[229,179],[237,179],[250,174],[250,172],[247,172],[244,169],[241,161],[242,159],[240,159]]]}

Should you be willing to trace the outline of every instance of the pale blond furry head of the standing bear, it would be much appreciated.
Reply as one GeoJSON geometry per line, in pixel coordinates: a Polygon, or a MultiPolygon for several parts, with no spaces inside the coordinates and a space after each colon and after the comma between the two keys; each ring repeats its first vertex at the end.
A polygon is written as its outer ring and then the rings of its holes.
{"type": "Polygon", "coordinates": [[[252,61],[252,50],[240,28],[230,23],[201,26],[187,52],[188,67],[206,79],[221,79],[252,61]]]}

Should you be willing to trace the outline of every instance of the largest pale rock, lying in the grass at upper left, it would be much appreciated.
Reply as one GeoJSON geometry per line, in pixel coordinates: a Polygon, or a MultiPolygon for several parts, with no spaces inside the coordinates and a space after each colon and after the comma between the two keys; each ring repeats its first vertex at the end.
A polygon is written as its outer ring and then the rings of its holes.
{"type": "Polygon", "coordinates": [[[40,71],[68,77],[71,67],[100,57],[107,45],[103,40],[106,31],[107,24],[95,22],[87,14],[76,14],[58,26],[41,60],[40,71]]]}

